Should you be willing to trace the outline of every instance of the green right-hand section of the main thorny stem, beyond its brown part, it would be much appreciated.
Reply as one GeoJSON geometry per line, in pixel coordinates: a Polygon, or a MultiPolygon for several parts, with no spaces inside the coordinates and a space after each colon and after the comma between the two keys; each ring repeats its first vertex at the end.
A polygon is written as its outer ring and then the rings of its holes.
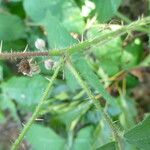
{"type": "Polygon", "coordinates": [[[59,56],[59,55],[64,54],[64,52],[66,52],[66,51],[67,51],[67,53],[72,54],[74,52],[84,50],[85,48],[95,46],[96,44],[99,44],[99,46],[100,46],[100,45],[103,45],[104,43],[110,42],[110,40],[112,40],[118,36],[125,34],[126,32],[137,30],[139,27],[144,26],[144,25],[148,25],[148,24],[150,24],[150,17],[143,18],[143,19],[138,20],[138,21],[134,21],[134,22],[130,23],[129,25],[123,26],[116,31],[111,31],[111,32],[106,33],[104,35],[95,37],[94,39],[86,40],[86,41],[81,42],[79,44],[73,45],[67,49],[50,50],[49,53],[52,56],[53,55],[59,56]]]}

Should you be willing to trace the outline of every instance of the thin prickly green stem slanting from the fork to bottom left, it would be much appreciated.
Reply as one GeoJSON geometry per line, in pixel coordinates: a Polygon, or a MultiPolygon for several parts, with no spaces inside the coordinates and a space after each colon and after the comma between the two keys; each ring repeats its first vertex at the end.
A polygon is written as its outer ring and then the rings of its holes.
{"type": "Polygon", "coordinates": [[[56,77],[57,77],[57,75],[58,75],[58,73],[59,73],[59,70],[60,70],[60,68],[61,68],[61,63],[62,63],[62,62],[60,61],[59,65],[58,65],[58,67],[56,68],[56,70],[55,70],[55,72],[54,72],[54,74],[53,74],[53,76],[52,76],[52,78],[51,78],[51,80],[50,80],[50,82],[49,82],[47,88],[45,89],[44,94],[43,94],[43,96],[42,96],[42,98],[41,98],[39,104],[37,105],[37,107],[36,107],[36,109],[35,109],[35,111],[34,111],[32,117],[31,117],[30,120],[27,122],[27,124],[24,126],[24,128],[23,128],[22,132],[20,133],[19,137],[16,139],[16,141],[15,141],[14,144],[12,145],[11,150],[17,150],[17,149],[18,149],[18,147],[19,147],[19,145],[21,144],[21,142],[22,142],[22,140],[23,140],[25,134],[26,134],[27,131],[30,129],[30,127],[31,127],[31,125],[33,124],[33,122],[35,121],[35,119],[38,117],[39,112],[40,112],[40,110],[41,110],[41,108],[42,108],[42,106],[43,106],[43,104],[44,104],[44,102],[45,102],[45,100],[46,100],[46,98],[47,98],[47,96],[48,96],[48,94],[49,94],[49,91],[50,91],[50,89],[51,89],[51,87],[52,87],[52,85],[53,85],[53,83],[54,83],[54,81],[55,81],[55,79],[56,79],[56,77]]]}

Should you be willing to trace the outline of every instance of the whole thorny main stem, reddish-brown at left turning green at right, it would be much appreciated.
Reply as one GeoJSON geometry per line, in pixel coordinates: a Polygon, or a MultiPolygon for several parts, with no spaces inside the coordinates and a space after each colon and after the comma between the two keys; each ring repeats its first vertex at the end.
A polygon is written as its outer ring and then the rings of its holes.
{"type": "Polygon", "coordinates": [[[91,46],[95,46],[96,44],[103,45],[106,42],[109,42],[110,40],[121,36],[125,34],[126,32],[133,31],[139,29],[139,27],[145,26],[150,24],[150,17],[142,18],[141,20],[134,21],[130,23],[129,25],[122,26],[120,29],[116,31],[111,31],[109,33],[106,33],[104,35],[95,37],[90,40],[86,40],[84,42],[72,45],[69,48],[64,49],[55,49],[55,50],[49,50],[47,52],[14,52],[14,53],[0,53],[0,59],[10,59],[10,58],[24,58],[24,57],[37,57],[37,56],[61,56],[64,53],[72,54],[74,52],[84,50],[86,48],[89,48],[91,46]]]}

